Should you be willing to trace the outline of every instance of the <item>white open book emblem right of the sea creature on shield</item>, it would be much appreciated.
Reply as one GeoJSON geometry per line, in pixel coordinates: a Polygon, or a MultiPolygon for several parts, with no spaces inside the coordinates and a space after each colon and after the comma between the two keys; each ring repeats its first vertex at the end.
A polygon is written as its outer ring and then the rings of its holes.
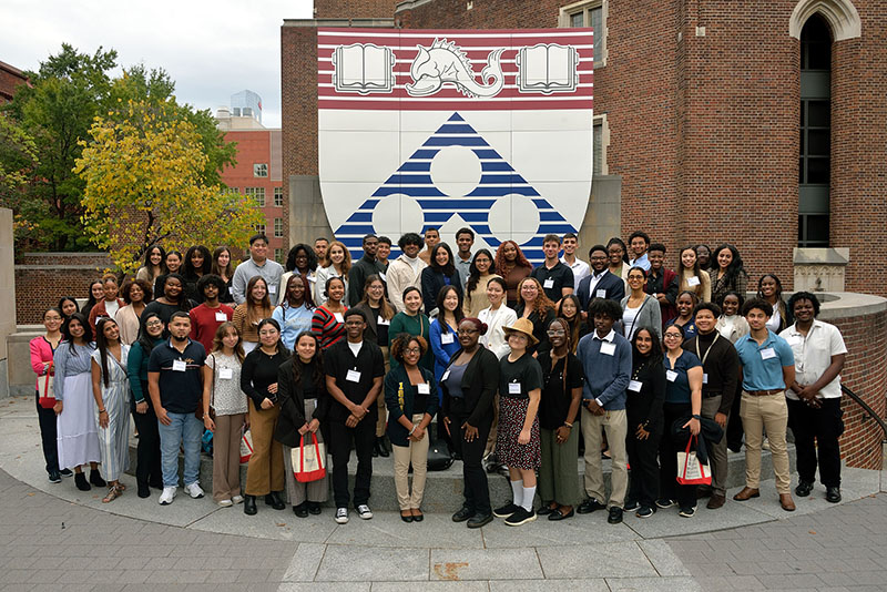
{"type": "Polygon", "coordinates": [[[539,43],[518,51],[520,92],[573,92],[579,84],[579,52],[557,43],[539,43]]]}

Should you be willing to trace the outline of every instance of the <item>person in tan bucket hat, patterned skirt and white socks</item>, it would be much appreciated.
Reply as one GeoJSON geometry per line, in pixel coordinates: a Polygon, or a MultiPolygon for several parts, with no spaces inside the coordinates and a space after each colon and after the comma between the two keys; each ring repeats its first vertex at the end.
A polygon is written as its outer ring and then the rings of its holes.
{"type": "Polygon", "coordinates": [[[539,400],[542,396],[542,368],[530,354],[539,345],[533,324],[519,318],[504,327],[511,353],[499,361],[499,428],[496,450],[508,467],[512,500],[493,510],[509,527],[536,520],[536,470],[542,461],[539,435],[539,400]]]}

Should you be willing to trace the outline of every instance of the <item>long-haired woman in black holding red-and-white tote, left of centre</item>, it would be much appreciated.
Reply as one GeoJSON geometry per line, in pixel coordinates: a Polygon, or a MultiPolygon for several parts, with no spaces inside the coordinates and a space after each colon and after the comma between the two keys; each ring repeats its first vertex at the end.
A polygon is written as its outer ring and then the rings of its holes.
{"type": "Polygon", "coordinates": [[[320,504],[329,497],[328,471],[320,479],[302,482],[295,471],[300,467],[294,461],[306,458],[306,449],[317,447],[320,467],[326,469],[326,449],[320,422],[326,420],[329,397],[324,377],[324,359],[320,343],[310,330],[296,337],[292,361],[285,361],[277,370],[277,404],[281,416],[274,430],[274,439],[283,446],[286,492],[293,512],[299,518],[309,513],[319,514],[320,504]],[[294,455],[295,452],[295,455],[294,455]]]}

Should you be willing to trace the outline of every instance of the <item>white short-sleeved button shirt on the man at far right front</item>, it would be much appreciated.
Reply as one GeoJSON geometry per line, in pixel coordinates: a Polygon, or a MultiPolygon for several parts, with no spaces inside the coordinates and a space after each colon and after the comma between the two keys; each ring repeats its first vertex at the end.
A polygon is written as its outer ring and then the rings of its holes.
{"type": "MultiPolygon", "coordinates": [[[[813,319],[813,325],[806,336],[797,330],[797,324],[794,324],[783,330],[779,337],[785,339],[795,355],[795,380],[799,385],[816,382],[832,366],[832,356],[847,353],[840,330],[834,325],[817,319],[813,319]]],[[[786,389],[785,396],[798,400],[797,395],[791,388],[786,389]]],[[[823,399],[840,398],[840,376],[836,376],[816,396],[823,399]]]]}

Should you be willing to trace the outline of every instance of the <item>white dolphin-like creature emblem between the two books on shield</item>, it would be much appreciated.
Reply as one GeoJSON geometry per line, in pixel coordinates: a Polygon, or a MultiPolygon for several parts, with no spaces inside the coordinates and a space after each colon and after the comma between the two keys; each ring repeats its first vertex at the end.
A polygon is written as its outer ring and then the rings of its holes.
{"type": "Polygon", "coordinates": [[[480,72],[479,83],[471,70],[468,57],[452,41],[435,39],[430,48],[419,48],[419,54],[412,61],[409,73],[412,84],[407,84],[407,92],[411,96],[428,96],[435,94],[443,84],[453,84],[466,96],[496,96],[504,85],[500,59],[503,49],[490,52],[487,65],[480,72]]]}

